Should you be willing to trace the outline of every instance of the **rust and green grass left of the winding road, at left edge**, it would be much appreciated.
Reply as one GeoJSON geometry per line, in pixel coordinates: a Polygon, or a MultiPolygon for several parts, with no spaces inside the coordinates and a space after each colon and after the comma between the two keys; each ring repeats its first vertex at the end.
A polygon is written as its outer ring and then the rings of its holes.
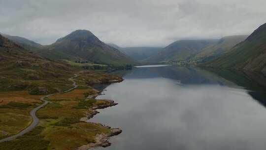
{"type": "Polygon", "coordinates": [[[27,91],[0,92],[0,138],[18,133],[32,122],[29,112],[40,103],[39,98],[27,91]]]}

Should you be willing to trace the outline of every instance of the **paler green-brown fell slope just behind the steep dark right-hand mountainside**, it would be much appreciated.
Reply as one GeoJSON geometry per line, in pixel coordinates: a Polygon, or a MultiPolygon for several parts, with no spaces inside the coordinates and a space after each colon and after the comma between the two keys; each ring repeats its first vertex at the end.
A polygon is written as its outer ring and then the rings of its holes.
{"type": "Polygon", "coordinates": [[[230,51],[233,46],[244,41],[248,36],[229,36],[221,38],[217,43],[212,44],[200,51],[191,60],[197,61],[198,63],[204,63],[207,61],[214,60],[219,56],[230,51]]]}

